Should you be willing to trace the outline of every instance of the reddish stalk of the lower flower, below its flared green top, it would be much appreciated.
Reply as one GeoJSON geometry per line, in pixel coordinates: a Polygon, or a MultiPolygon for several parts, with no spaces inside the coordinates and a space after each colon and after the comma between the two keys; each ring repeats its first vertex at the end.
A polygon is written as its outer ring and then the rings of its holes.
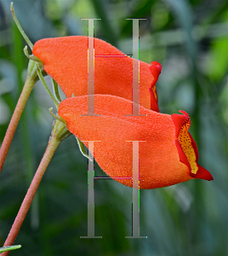
{"type": "MultiPolygon", "coordinates": [[[[37,172],[32,179],[30,188],[28,189],[26,193],[26,197],[20,206],[20,210],[17,214],[17,217],[14,220],[14,224],[11,230],[9,231],[9,236],[7,237],[7,240],[5,241],[3,247],[12,246],[14,244],[14,240],[18,235],[18,232],[20,230],[20,227],[24,219],[26,218],[26,214],[31,206],[31,201],[33,200],[33,197],[37,192],[37,188],[42,180],[43,174],[47,169],[48,164],[52,159],[56,148],[58,148],[58,146],[60,145],[60,142],[61,140],[59,139],[59,137],[53,136],[50,138],[48,142],[48,147],[46,148],[46,151],[43,154],[43,159],[41,160],[40,165],[37,169],[37,172]]],[[[2,253],[1,256],[7,256],[8,254],[9,254],[9,251],[2,253]]]]}

